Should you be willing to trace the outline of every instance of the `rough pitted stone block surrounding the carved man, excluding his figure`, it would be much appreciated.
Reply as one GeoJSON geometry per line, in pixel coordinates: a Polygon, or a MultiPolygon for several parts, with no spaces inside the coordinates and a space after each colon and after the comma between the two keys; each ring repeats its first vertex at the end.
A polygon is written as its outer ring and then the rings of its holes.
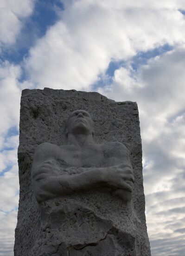
{"type": "Polygon", "coordinates": [[[136,102],[115,102],[95,92],[23,90],[18,161],[15,256],[150,255],[136,102]],[[64,126],[76,109],[90,113],[97,144],[119,141],[128,148],[135,177],[130,202],[106,189],[36,201],[31,180],[34,151],[43,142],[65,144],[64,126]]]}

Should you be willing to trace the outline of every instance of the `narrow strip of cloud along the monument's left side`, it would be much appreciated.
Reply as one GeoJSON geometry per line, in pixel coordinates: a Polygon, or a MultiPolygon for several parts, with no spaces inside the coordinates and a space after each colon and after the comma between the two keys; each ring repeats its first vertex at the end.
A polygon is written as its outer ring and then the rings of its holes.
{"type": "Polygon", "coordinates": [[[17,222],[19,177],[17,164],[18,135],[9,133],[19,127],[19,65],[0,62],[0,255],[13,255],[14,229],[17,222]],[[7,137],[8,135],[8,137],[7,137]]]}

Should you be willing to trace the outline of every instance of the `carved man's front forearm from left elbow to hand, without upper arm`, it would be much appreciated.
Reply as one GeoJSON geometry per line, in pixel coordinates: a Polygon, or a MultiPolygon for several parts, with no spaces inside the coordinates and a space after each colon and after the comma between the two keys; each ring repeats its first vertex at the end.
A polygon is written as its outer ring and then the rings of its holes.
{"type": "Polygon", "coordinates": [[[109,187],[132,192],[126,180],[134,182],[134,175],[128,164],[119,164],[104,168],[81,168],[80,174],[64,175],[38,175],[33,182],[35,195],[38,202],[46,199],[71,194],[76,191],[109,187]],[[40,178],[42,177],[42,178],[40,178]]]}

